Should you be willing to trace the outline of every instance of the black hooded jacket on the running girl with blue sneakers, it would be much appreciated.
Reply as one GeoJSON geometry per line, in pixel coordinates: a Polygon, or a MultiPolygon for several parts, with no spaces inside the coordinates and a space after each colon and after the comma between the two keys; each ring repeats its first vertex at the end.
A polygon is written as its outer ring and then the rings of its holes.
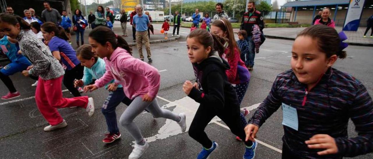
{"type": "Polygon", "coordinates": [[[216,55],[193,64],[201,90],[192,88],[189,97],[200,103],[200,107],[209,107],[216,113],[226,106],[238,106],[238,98],[233,86],[229,83],[225,70],[229,69],[228,62],[216,55]]]}

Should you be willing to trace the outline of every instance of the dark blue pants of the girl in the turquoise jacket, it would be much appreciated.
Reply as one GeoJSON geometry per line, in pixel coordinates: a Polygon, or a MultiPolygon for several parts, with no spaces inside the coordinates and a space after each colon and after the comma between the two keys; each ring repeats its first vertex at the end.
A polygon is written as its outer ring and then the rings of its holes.
{"type": "Polygon", "coordinates": [[[120,104],[120,102],[127,106],[132,103],[132,100],[124,94],[123,88],[117,88],[116,91],[110,92],[101,108],[101,112],[105,116],[107,129],[110,133],[119,132],[115,108],[120,104]]]}

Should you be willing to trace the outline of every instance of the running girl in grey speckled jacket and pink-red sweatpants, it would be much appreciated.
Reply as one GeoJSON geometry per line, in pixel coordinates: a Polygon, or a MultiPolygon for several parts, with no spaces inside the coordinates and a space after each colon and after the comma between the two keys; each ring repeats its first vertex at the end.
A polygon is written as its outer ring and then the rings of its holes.
{"type": "Polygon", "coordinates": [[[93,98],[75,97],[62,98],[63,68],[52,56],[48,46],[29,32],[30,25],[21,17],[11,14],[0,14],[0,30],[12,39],[18,40],[22,54],[34,64],[22,71],[24,76],[39,76],[36,87],[35,100],[40,113],[50,124],[44,131],[66,127],[67,123],[56,108],[78,106],[85,108],[88,115],[94,113],[93,98]]]}

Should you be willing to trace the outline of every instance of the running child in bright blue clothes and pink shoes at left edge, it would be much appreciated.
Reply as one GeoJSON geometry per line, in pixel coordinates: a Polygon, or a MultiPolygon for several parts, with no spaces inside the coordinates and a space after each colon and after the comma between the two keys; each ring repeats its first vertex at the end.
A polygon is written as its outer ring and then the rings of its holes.
{"type": "MultiPolygon", "coordinates": [[[[11,61],[10,64],[4,66],[0,69],[0,79],[4,82],[5,86],[8,88],[9,93],[1,97],[3,100],[10,100],[21,96],[19,92],[13,85],[12,80],[9,78],[10,75],[15,74],[16,72],[22,72],[28,66],[31,66],[31,62],[28,59],[18,54],[19,46],[18,41],[11,39],[0,30],[0,49],[5,53],[5,55],[11,61]]],[[[38,77],[30,76],[32,79],[37,80],[38,77]]]]}

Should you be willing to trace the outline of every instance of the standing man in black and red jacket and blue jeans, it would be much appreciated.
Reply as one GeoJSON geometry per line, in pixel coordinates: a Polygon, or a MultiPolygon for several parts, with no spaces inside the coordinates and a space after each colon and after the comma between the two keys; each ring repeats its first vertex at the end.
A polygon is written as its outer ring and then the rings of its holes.
{"type": "MultiPolygon", "coordinates": [[[[247,4],[247,10],[248,12],[244,13],[244,15],[242,16],[240,30],[246,30],[247,32],[246,41],[249,43],[249,57],[248,57],[248,62],[246,66],[249,69],[249,71],[252,71],[254,67],[254,58],[255,58],[255,43],[252,38],[253,26],[258,25],[260,31],[262,32],[261,35],[263,35],[264,22],[263,22],[263,15],[258,10],[255,9],[254,1],[250,1],[247,4]]],[[[264,40],[262,40],[262,42],[264,42],[264,40]]]]}

